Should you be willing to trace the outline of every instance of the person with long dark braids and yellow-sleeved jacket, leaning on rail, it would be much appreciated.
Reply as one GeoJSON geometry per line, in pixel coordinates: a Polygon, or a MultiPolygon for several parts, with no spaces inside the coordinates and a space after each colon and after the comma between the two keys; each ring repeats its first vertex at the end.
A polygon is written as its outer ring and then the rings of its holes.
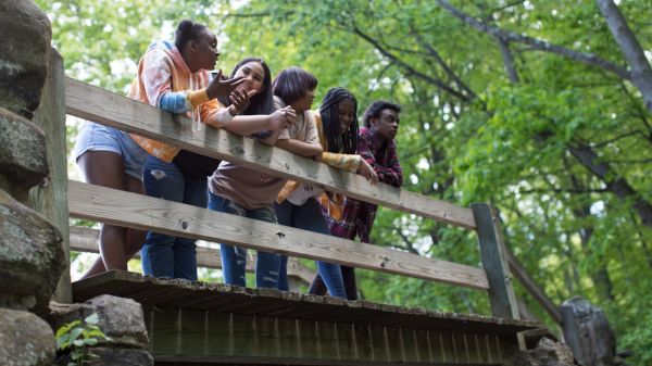
{"type": "MultiPolygon", "coordinates": [[[[314,116],[318,130],[319,143],[324,152],[316,160],[349,172],[359,172],[372,185],[378,184],[378,176],[372,166],[360,155],[358,149],[358,121],[355,118],[358,101],[343,88],[328,90],[319,111],[310,111],[314,116]]],[[[312,187],[288,181],[276,199],[275,209],[278,223],[304,230],[330,235],[328,225],[322,215],[319,202],[326,207],[337,206],[327,204],[331,201],[343,201],[343,197],[326,194],[312,187]]],[[[334,212],[331,214],[336,215],[334,212]]],[[[317,269],[323,282],[333,296],[347,298],[346,285],[342,280],[340,265],[317,261],[317,269]]],[[[288,290],[287,256],[281,256],[279,273],[279,290],[288,290]]]]}

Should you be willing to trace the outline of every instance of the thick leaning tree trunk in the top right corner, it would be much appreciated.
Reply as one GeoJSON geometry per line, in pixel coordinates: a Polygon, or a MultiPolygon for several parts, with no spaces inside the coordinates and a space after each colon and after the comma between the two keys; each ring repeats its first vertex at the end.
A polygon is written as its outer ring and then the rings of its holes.
{"type": "Polygon", "coordinates": [[[631,83],[641,91],[645,108],[652,112],[652,67],[620,10],[612,0],[597,0],[609,29],[631,67],[631,83]]]}

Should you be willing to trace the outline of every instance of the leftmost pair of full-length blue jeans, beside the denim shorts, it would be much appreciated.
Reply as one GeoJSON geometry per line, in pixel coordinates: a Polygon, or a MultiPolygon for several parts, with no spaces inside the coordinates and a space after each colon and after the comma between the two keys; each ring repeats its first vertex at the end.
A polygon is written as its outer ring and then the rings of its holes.
{"type": "MultiPolygon", "coordinates": [[[[148,195],[205,207],[205,179],[188,180],[173,163],[148,156],[143,167],[143,185],[148,195]]],[[[142,273],[154,277],[197,280],[195,239],[149,231],[140,251],[142,273]]]]}

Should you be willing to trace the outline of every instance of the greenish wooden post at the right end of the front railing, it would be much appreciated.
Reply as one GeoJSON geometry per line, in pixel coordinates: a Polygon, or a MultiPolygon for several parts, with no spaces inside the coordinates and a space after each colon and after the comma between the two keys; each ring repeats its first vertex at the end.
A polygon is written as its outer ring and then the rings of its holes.
{"type": "Polygon", "coordinates": [[[474,203],[471,209],[478,228],[482,267],[489,281],[491,313],[501,318],[519,319],[498,214],[487,203],[474,203]]]}

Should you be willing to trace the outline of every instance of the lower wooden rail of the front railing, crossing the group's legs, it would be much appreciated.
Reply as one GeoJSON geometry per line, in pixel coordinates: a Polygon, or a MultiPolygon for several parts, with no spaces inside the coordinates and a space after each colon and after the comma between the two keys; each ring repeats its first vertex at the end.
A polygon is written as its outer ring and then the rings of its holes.
{"type": "Polygon", "coordinates": [[[68,207],[72,216],[118,226],[488,289],[480,268],[73,180],[68,207]]]}

